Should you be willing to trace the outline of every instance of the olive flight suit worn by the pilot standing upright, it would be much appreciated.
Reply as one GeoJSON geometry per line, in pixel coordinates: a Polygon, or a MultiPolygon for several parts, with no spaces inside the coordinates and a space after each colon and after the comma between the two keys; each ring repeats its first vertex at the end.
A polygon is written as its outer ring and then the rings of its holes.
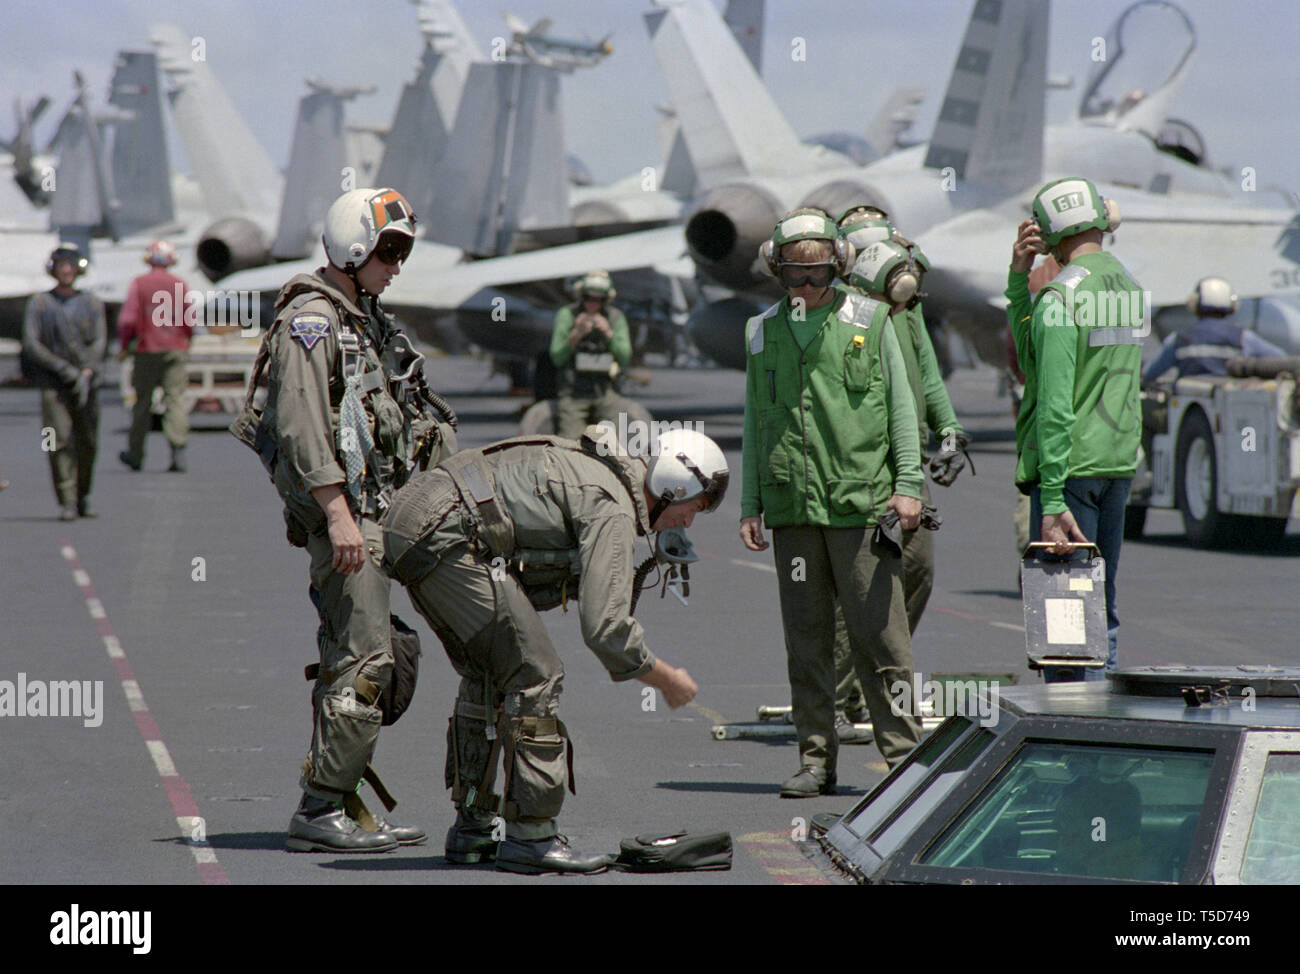
{"type": "MultiPolygon", "coordinates": [[[[276,447],[272,479],[285,502],[290,541],[311,555],[321,620],[315,724],[300,784],[326,801],[356,791],[378,741],[382,714],[376,700],[393,674],[390,581],[381,568],[380,518],[404,480],[415,447],[415,434],[387,381],[391,368],[381,358],[395,329],[372,299],[363,296],[361,304],[364,309],[335,289],[324,270],[299,274],[281,291],[277,320],[265,338],[270,358],[263,428],[272,432],[276,447]],[[344,329],[359,349],[355,369],[372,386],[361,395],[364,419],[356,424],[341,421],[344,329]],[[373,441],[369,451],[365,438],[373,441]],[[348,441],[365,454],[364,464],[360,454],[354,458],[351,471],[348,441]],[[359,572],[334,570],[325,512],[311,494],[332,484],[342,486],[365,538],[368,558],[359,572]]],[[[450,442],[436,449],[454,449],[450,428],[443,433],[450,442]]]]}

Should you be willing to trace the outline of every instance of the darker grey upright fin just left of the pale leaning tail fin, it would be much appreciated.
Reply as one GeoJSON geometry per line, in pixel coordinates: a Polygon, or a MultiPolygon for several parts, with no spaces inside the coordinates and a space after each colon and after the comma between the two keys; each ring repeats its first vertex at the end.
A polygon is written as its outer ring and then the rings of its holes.
{"type": "Polygon", "coordinates": [[[114,218],[121,233],[161,226],[176,218],[157,70],[152,51],[122,51],[109,85],[108,101],[124,113],[113,125],[108,153],[117,202],[114,218]]]}

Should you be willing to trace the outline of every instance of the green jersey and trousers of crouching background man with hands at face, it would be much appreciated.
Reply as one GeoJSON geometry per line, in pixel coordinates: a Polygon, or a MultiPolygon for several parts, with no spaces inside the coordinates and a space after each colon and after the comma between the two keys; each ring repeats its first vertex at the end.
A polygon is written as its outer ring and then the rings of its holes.
{"type": "Polygon", "coordinates": [[[555,403],[555,432],[568,440],[577,440],[586,427],[611,420],[618,424],[619,412],[627,411],[625,401],[614,388],[610,367],[621,368],[632,358],[632,334],[628,319],[612,304],[601,313],[614,333],[610,338],[589,333],[575,349],[569,345],[573,317],[581,311],[566,304],[555,312],[551,333],[551,362],[559,369],[559,395],[555,403]]]}

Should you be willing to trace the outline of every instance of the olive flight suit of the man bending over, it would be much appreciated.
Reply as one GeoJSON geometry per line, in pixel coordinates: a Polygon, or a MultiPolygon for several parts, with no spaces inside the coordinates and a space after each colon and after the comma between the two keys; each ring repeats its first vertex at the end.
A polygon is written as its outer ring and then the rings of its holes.
{"type": "Polygon", "coordinates": [[[582,640],[615,681],[655,663],[630,615],[634,546],[649,532],[645,466],[611,462],[621,476],[558,437],[467,450],[413,476],[384,521],[389,571],[462,678],[447,732],[452,801],[471,819],[500,814],[511,837],[554,835],[566,782],[572,788],[572,745],[556,715],[564,667],[534,603],[576,598],[582,640]],[[488,546],[481,508],[448,472],[463,464],[472,469],[458,476],[481,476],[508,521],[510,555],[488,546]]]}

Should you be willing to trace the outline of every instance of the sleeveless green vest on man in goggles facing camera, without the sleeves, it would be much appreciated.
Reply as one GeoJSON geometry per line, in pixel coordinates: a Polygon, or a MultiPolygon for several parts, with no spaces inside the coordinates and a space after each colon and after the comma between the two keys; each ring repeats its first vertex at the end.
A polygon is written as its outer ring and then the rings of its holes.
{"type": "Polygon", "coordinates": [[[893,494],[881,358],[889,308],[862,294],[837,300],[807,349],[784,300],[745,329],[759,499],[772,528],[874,524],[893,494]]]}

